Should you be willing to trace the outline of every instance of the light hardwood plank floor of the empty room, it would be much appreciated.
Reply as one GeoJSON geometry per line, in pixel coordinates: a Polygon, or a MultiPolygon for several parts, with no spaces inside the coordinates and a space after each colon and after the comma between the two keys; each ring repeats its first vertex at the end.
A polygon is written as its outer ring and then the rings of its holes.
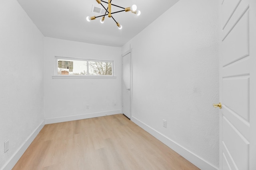
{"type": "Polygon", "coordinates": [[[199,170],[122,114],[45,125],[13,170],[199,170]]]}

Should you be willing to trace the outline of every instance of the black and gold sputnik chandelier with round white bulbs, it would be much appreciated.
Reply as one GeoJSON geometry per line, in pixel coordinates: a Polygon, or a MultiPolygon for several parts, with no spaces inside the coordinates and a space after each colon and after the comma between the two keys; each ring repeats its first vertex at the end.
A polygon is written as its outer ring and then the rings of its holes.
{"type": "Polygon", "coordinates": [[[95,20],[96,18],[99,18],[99,17],[102,17],[102,19],[100,20],[100,23],[104,23],[104,20],[105,20],[105,16],[108,16],[109,18],[112,18],[115,22],[116,22],[116,25],[118,26],[119,29],[122,29],[122,25],[120,25],[120,23],[118,23],[112,16],[112,14],[116,14],[118,12],[132,12],[133,14],[136,14],[137,16],[140,15],[140,11],[137,11],[137,6],[136,5],[132,5],[132,8],[131,7],[128,7],[128,8],[123,8],[123,7],[120,7],[120,6],[117,6],[117,5],[114,5],[114,4],[111,4],[111,1],[112,0],[108,0],[108,2],[105,2],[103,0],[96,0],[98,2],[98,4],[101,4],[101,2],[104,2],[106,4],[108,4],[108,7],[105,8],[103,5],[102,7],[106,10],[105,14],[104,15],[101,15],[101,16],[92,16],[92,17],[86,17],[86,20],[87,21],[91,21],[91,20],[95,20]],[[111,6],[116,6],[118,8],[122,8],[122,10],[120,11],[117,11],[117,12],[111,12],[111,6]],[[107,14],[108,13],[108,14],[107,14]]]}

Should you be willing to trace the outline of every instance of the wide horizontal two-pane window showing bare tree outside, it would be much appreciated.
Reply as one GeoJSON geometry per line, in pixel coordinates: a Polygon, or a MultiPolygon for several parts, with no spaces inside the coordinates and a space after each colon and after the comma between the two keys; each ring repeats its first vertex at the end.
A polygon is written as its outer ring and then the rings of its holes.
{"type": "Polygon", "coordinates": [[[114,77],[114,61],[55,57],[56,76],[114,77]]]}

